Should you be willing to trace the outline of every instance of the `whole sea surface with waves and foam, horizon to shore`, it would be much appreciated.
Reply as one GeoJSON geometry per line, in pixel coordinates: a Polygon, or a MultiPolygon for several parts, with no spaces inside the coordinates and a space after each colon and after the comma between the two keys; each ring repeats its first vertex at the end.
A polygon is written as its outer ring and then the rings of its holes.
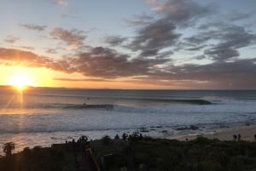
{"type": "Polygon", "coordinates": [[[0,95],[0,146],[13,141],[16,151],[81,135],[96,140],[139,131],[164,137],[256,123],[253,90],[0,88],[0,95]],[[186,129],[191,125],[194,132],[186,129]]]}

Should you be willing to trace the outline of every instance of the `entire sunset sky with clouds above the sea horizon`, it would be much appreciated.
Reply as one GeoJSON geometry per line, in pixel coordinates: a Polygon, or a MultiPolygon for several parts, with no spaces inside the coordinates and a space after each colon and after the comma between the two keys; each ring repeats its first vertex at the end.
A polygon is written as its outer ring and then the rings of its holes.
{"type": "Polygon", "coordinates": [[[1,0],[0,85],[256,89],[255,7],[255,0],[1,0]]]}

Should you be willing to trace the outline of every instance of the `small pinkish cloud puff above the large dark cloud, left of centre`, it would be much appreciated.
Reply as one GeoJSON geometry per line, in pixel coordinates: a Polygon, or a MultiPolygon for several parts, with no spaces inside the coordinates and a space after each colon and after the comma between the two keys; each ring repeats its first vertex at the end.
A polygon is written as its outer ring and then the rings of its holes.
{"type": "Polygon", "coordinates": [[[73,48],[79,48],[84,45],[83,41],[85,36],[83,33],[84,31],[79,31],[77,29],[68,31],[62,28],[53,28],[49,35],[56,40],[61,40],[68,45],[73,46],[73,48]]]}

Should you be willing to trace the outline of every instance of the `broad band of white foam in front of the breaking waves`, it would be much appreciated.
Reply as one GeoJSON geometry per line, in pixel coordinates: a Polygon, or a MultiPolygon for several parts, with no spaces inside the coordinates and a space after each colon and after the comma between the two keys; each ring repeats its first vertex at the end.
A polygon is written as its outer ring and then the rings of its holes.
{"type": "MultiPolygon", "coordinates": [[[[44,133],[91,131],[203,123],[239,123],[256,119],[252,102],[218,105],[122,106],[113,110],[80,109],[44,111],[31,115],[0,115],[0,132],[44,133]]],[[[36,111],[33,111],[36,112],[36,111]]]]}

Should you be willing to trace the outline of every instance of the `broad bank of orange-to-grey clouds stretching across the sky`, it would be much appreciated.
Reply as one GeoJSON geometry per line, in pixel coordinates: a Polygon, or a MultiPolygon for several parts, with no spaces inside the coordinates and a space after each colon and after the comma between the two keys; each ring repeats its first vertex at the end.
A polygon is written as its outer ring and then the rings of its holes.
{"type": "MultiPolygon", "coordinates": [[[[66,1],[58,2],[64,5],[66,1]]],[[[45,67],[93,77],[79,80],[55,78],[62,81],[110,82],[126,78],[131,83],[167,87],[256,88],[256,58],[241,54],[241,49],[255,46],[256,34],[235,23],[252,17],[253,12],[224,15],[212,4],[202,6],[191,0],[148,3],[153,6],[152,14],[125,20],[133,29],[132,37],[108,35],[103,38],[107,47],[93,47],[86,44],[85,31],[54,27],[47,29],[49,38],[61,43],[62,47],[45,49],[57,58],[15,48],[0,48],[0,63],[45,67]],[[219,16],[224,18],[219,20],[219,16]],[[230,17],[234,22],[224,22],[231,20],[230,17]],[[184,30],[189,30],[189,34],[184,30]],[[70,53],[59,53],[67,47],[70,53]]],[[[22,26],[34,31],[48,28],[22,26]]],[[[9,37],[5,41],[15,43],[18,40],[9,37]]]]}

